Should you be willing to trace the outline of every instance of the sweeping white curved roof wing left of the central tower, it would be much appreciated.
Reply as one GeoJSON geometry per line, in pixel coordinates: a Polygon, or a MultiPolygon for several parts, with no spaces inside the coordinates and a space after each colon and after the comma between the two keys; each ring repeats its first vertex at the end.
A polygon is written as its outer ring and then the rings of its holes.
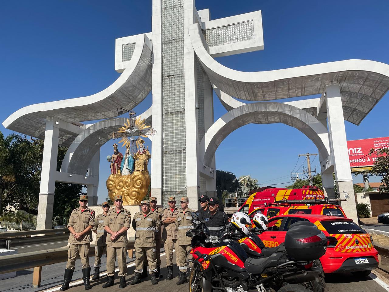
{"type": "MultiPolygon", "coordinates": [[[[11,114],[5,128],[44,138],[46,118],[54,116],[67,123],[82,126],[81,121],[102,120],[118,116],[117,108],[132,109],[151,91],[152,44],[145,34],[136,36],[133,55],[124,72],[104,90],[74,99],[58,100],[26,106],[11,114]]],[[[60,130],[60,135],[61,135],[60,130]]],[[[75,139],[66,139],[70,145],[75,139]]],[[[63,144],[60,141],[60,145],[63,144]]]]}

